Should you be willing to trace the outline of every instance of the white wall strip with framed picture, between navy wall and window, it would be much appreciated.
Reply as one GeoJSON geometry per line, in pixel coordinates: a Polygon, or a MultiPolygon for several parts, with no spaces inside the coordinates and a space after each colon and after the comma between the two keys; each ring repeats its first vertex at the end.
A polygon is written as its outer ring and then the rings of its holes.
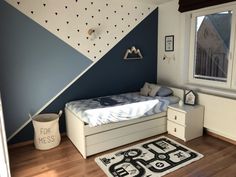
{"type": "Polygon", "coordinates": [[[158,82],[177,84],[182,83],[181,68],[183,59],[181,51],[181,13],[177,11],[178,1],[170,1],[159,5],[158,24],[158,82]],[[174,52],[165,52],[165,36],[174,35],[174,52]],[[163,60],[164,55],[167,56],[163,60]],[[174,77],[173,77],[174,76],[174,77]]]}

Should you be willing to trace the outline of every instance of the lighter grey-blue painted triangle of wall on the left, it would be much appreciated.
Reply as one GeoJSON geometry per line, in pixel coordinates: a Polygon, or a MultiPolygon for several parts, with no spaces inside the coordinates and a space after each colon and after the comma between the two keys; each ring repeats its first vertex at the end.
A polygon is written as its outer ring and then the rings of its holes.
{"type": "Polygon", "coordinates": [[[0,1],[0,91],[9,137],[92,62],[0,1]]]}

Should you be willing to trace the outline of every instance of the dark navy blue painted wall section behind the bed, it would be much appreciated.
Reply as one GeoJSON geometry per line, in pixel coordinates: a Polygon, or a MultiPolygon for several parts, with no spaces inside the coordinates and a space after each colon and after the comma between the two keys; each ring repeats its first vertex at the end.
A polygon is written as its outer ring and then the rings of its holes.
{"type": "MultiPolygon", "coordinates": [[[[139,91],[145,81],[156,82],[157,23],[158,10],[155,10],[42,113],[64,110],[65,103],[72,100],[139,91]],[[123,60],[126,49],[133,45],[141,50],[144,58],[123,60]]],[[[60,129],[65,131],[64,115],[60,129]]],[[[32,138],[30,123],[11,143],[32,138]]]]}

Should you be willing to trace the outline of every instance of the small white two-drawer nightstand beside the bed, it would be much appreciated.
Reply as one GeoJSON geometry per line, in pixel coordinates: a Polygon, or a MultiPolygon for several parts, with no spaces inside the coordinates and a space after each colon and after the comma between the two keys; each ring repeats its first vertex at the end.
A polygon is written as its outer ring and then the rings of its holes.
{"type": "Polygon", "coordinates": [[[167,131],[184,141],[188,141],[203,133],[204,107],[174,104],[168,106],[167,131]]]}

